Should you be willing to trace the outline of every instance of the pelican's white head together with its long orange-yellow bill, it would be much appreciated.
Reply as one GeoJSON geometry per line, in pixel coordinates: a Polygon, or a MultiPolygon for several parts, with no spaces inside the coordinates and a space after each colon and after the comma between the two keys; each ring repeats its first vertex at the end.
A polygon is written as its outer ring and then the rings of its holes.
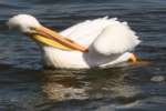
{"type": "Polygon", "coordinates": [[[80,50],[86,51],[85,48],[79,46],[72,40],[63,38],[58,32],[43,27],[34,17],[30,14],[18,14],[9,19],[7,22],[10,29],[19,31],[31,37],[35,42],[42,46],[50,46],[61,50],[80,50]]]}

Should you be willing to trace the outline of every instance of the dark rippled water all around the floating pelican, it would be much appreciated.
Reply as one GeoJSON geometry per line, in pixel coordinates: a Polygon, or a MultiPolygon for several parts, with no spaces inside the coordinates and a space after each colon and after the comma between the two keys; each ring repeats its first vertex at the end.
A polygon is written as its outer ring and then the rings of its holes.
{"type": "Polygon", "coordinates": [[[0,0],[0,111],[165,111],[165,0],[0,0]],[[30,13],[63,30],[104,16],[128,21],[151,64],[87,71],[42,68],[39,48],[4,22],[30,13]]]}

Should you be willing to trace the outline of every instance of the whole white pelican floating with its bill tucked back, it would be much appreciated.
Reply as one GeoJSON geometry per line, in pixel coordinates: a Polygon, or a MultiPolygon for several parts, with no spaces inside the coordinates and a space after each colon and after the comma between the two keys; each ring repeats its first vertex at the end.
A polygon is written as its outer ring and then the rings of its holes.
{"type": "Polygon", "coordinates": [[[18,14],[7,22],[33,39],[42,49],[44,63],[53,68],[103,68],[136,62],[132,51],[141,41],[126,22],[100,18],[56,32],[43,27],[34,17],[18,14]]]}

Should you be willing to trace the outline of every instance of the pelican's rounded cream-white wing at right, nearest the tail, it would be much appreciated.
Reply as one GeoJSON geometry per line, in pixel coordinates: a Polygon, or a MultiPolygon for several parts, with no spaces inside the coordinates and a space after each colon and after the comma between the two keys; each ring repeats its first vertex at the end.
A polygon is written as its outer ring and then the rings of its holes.
{"type": "Polygon", "coordinates": [[[93,42],[96,52],[110,56],[133,50],[141,41],[125,22],[114,21],[93,42]]]}

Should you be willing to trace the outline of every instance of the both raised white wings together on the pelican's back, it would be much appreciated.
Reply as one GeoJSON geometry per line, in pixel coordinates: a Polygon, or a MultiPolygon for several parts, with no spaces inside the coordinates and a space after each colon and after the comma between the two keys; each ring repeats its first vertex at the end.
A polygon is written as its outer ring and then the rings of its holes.
{"type": "Polygon", "coordinates": [[[131,51],[139,43],[138,37],[128,24],[115,18],[87,20],[62,31],[61,34],[104,56],[131,51]]]}

